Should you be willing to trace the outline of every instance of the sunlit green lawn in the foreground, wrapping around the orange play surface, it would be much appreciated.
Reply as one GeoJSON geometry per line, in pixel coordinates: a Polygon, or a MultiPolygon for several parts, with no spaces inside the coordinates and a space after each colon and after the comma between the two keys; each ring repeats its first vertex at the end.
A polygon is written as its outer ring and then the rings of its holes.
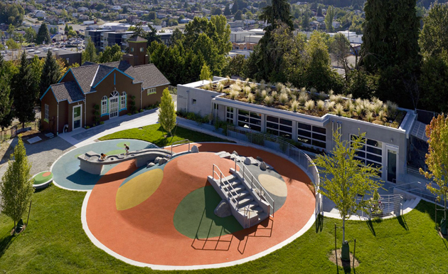
{"type": "MultiPolygon", "coordinates": [[[[82,230],[84,192],[56,186],[33,194],[30,223],[11,238],[10,218],[0,215],[0,272],[6,273],[161,273],[123,263],[96,248],[82,230]]],[[[420,202],[404,218],[366,222],[348,221],[347,239],[361,265],[356,273],[448,273],[447,241],[437,235],[434,205],[420,202]]],[[[334,223],[323,218],[293,243],[263,258],[230,268],[189,273],[336,273],[327,254],[334,247],[334,223]]],[[[342,231],[338,229],[338,244],[342,231]]],[[[250,239],[247,244],[250,244],[250,239]]],[[[205,251],[223,252],[223,251],[205,251]]],[[[176,273],[186,273],[178,271],[176,273]]],[[[343,273],[340,268],[340,273],[343,273]]],[[[353,273],[353,271],[352,271],[353,273]]]]}

